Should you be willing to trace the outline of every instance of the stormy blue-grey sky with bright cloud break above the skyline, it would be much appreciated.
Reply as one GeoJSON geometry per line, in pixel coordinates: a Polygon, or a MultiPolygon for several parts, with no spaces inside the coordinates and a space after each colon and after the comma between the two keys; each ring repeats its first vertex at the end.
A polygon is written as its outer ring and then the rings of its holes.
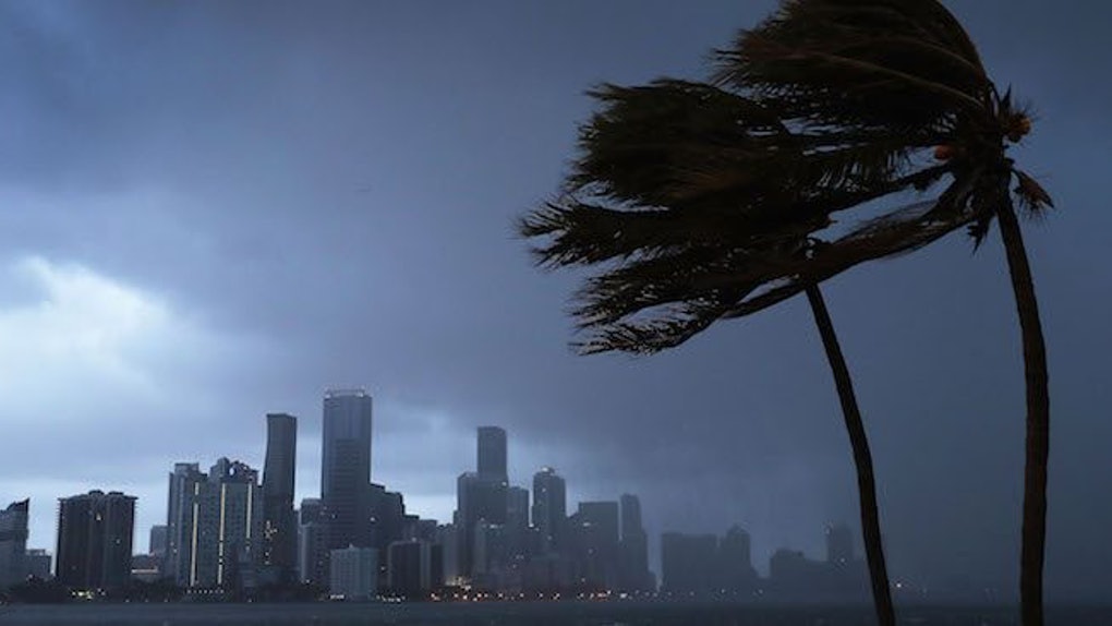
{"type": "MultiPolygon", "coordinates": [[[[953,0],[997,82],[1037,112],[1016,151],[1059,208],[1026,226],[1050,350],[1048,585],[1112,585],[1112,9],[953,0]]],[[[0,1],[0,506],[139,496],[175,461],[261,468],[299,419],[319,490],[320,397],[376,401],[374,479],[446,519],[474,429],[510,478],[641,495],[662,530],[813,556],[856,524],[850,448],[804,302],[652,358],[567,348],[574,274],[512,221],[552,198],[584,90],[705,76],[772,1],[0,1]]],[[[1015,587],[1019,331],[995,237],[954,235],[826,287],[880,478],[893,579],[1015,587]]],[[[654,552],[656,550],[653,541],[654,552]]]]}

